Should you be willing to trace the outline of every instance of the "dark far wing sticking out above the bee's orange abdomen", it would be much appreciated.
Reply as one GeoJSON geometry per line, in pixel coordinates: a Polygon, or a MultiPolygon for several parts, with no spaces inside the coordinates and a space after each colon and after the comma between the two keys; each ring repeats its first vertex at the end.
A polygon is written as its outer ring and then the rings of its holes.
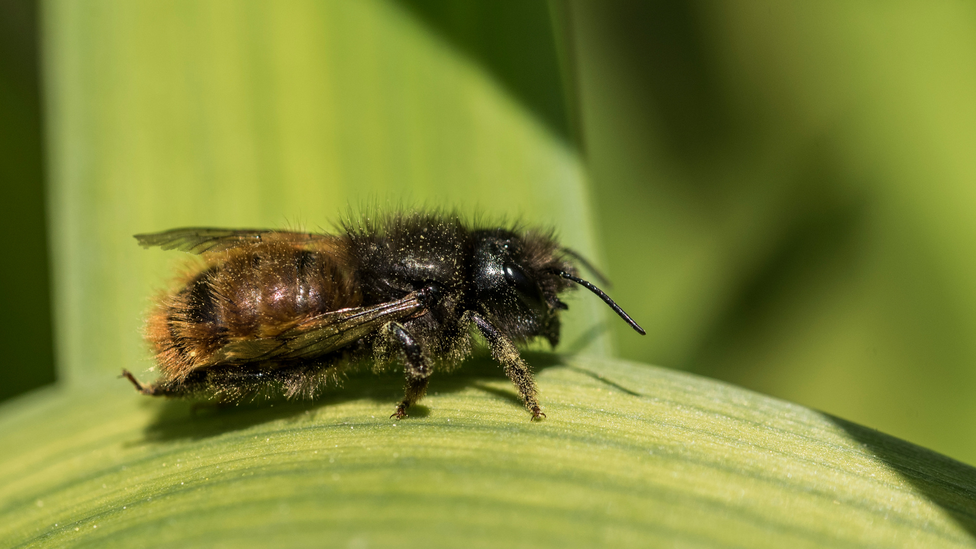
{"type": "Polygon", "coordinates": [[[159,246],[164,250],[180,250],[192,254],[220,252],[244,244],[261,242],[267,238],[291,241],[307,241],[328,238],[313,232],[273,231],[270,229],[217,229],[213,227],[186,227],[163,232],[136,234],[143,248],[159,246]]]}

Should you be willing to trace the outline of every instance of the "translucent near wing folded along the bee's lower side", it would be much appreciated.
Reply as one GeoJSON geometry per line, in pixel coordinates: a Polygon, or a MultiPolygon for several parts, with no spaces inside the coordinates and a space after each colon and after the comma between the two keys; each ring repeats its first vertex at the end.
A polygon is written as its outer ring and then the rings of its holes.
{"type": "Polygon", "coordinates": [[[412,317],[423,310],[419,294],[414,292],[380,305],[332,311],[276,336],[227,343],[202,365],[321,357],[375,332],[386,322],[412,317]]]}

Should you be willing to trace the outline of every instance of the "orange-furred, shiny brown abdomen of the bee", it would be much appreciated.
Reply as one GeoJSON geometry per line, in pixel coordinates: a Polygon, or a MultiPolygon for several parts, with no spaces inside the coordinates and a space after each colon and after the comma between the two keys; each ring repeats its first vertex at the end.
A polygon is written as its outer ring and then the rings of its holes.
{"type": "Polygon", "coordinates": [[[162,296],[146,321],[162,378],[206,367],[228,342],[272,338],[311,317],[361,305],[342,257],[332,247],[269,241],[206,258],[206,268],[162,296]]]}

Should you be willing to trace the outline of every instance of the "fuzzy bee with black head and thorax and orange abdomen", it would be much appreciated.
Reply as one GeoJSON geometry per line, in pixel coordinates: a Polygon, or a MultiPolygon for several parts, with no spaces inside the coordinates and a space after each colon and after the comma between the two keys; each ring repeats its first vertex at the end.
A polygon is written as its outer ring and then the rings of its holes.
{"type": "MultiPolygon", "coordinates": [[[[477,228],[457,214],[348,218],[336,233],[174,229],[136,234],[143,247],[201,254],[202,266],[161,295],[145,322],[159,378],[143,395],[220,402],[314,398],[346,368],[402,363],[402,418],[431,373],[484,338],[533,419],[546,416],[516,345],[559,342],[559,295],[579,284],[638,333],[602,290],[579,277],[579,254],[551,232],[477,228]]],[[[599,274],[593,272],[598,278],[599,274]]]]}

